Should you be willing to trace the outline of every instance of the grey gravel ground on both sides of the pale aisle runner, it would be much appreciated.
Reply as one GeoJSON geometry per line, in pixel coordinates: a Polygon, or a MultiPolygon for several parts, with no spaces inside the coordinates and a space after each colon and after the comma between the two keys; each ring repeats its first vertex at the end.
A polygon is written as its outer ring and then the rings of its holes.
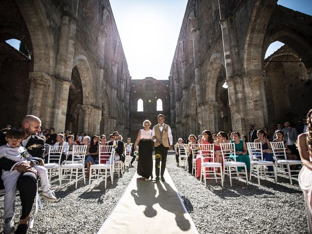
{"type": "MultiPolygon", "coordinates": [[[[200,183],[182,168],[176,167],[175,156],[168,156],[167,169],[190,213],[198,233],[308,233],[303,194],[297,180],[290,185],[286,176],[257,183],[252,176],[249,186],[243,180],[225,179],[200,183]]],[[[115,175],[114,184],[109,181],[93,181],[91,189],[82,180],[65,183],[59,187],[52,182],[57,202],[43,200],[44,210],[38,212],[34,228],[29,234],[92,234],[97,233],[125,191],[136,168],[130,168],[123,176],[115,175]]],[[[18,210],[19,208],[17,208],[18,210]]],[[[3,210],[0,211],[3,215],[3,210]]],[[[17,215],[18,216],[18,215],[17,215]]],[[[15,218],[18,222],[18,218],[15,218]]],[[[0,223],[0,230],[3,222],[0,223]]]]}

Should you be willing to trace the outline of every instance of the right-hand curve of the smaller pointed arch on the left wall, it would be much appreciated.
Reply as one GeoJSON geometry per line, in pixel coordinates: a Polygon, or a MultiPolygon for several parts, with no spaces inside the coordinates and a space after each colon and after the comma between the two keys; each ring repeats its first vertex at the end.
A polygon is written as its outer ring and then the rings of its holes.
{"type": "Polygon", "coordinates": [[[74,58],[73,67],[77,67],[81,78],[82,93],[83,93],[83,104],[91,105],[94,101],[93,93],[93,78],[91,69],[87,58],[83,55],[78,55],[74,58]]]}

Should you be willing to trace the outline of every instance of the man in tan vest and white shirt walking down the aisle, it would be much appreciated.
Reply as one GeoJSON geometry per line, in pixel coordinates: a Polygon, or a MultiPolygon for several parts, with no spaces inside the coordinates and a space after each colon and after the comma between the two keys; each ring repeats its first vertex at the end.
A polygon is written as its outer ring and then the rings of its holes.
{"type": "Polygon", "coordinates": [[[159,169],[161,160],[161,170],[160,178],[161,181],[165,181],[164,172],[166,169],[167,153],[168,149],[173,150],[173,137],[171,133],[171,128],[169,125],[165,124],[165,117],[159,114],[158,124],[153,127],[152,139],[155,142],[155,171],[156,179],[155,182],[159,181],[159,169]]]}

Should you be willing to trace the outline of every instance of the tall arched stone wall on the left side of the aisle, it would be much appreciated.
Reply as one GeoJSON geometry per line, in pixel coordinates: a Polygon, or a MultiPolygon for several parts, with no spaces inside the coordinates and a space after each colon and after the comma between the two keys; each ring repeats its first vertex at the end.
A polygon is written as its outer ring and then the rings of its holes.
{"type": "Polygon", "coordinates": [[[33,114],[56,132],[128,134],[131,77],[109,0],[2,0],[0,15],[0,41],[31,56],[0,50],[1,126],[33,114]]]}

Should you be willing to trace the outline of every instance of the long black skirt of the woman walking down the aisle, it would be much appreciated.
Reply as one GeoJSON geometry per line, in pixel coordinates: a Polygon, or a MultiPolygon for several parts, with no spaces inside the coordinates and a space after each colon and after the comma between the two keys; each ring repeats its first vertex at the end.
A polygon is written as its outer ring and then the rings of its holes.
{"type": "Polygon", "coordinates": [[[140,139],[138,147],[137,174],[153,178],[153,143],[151,139],[140,139]]]}

